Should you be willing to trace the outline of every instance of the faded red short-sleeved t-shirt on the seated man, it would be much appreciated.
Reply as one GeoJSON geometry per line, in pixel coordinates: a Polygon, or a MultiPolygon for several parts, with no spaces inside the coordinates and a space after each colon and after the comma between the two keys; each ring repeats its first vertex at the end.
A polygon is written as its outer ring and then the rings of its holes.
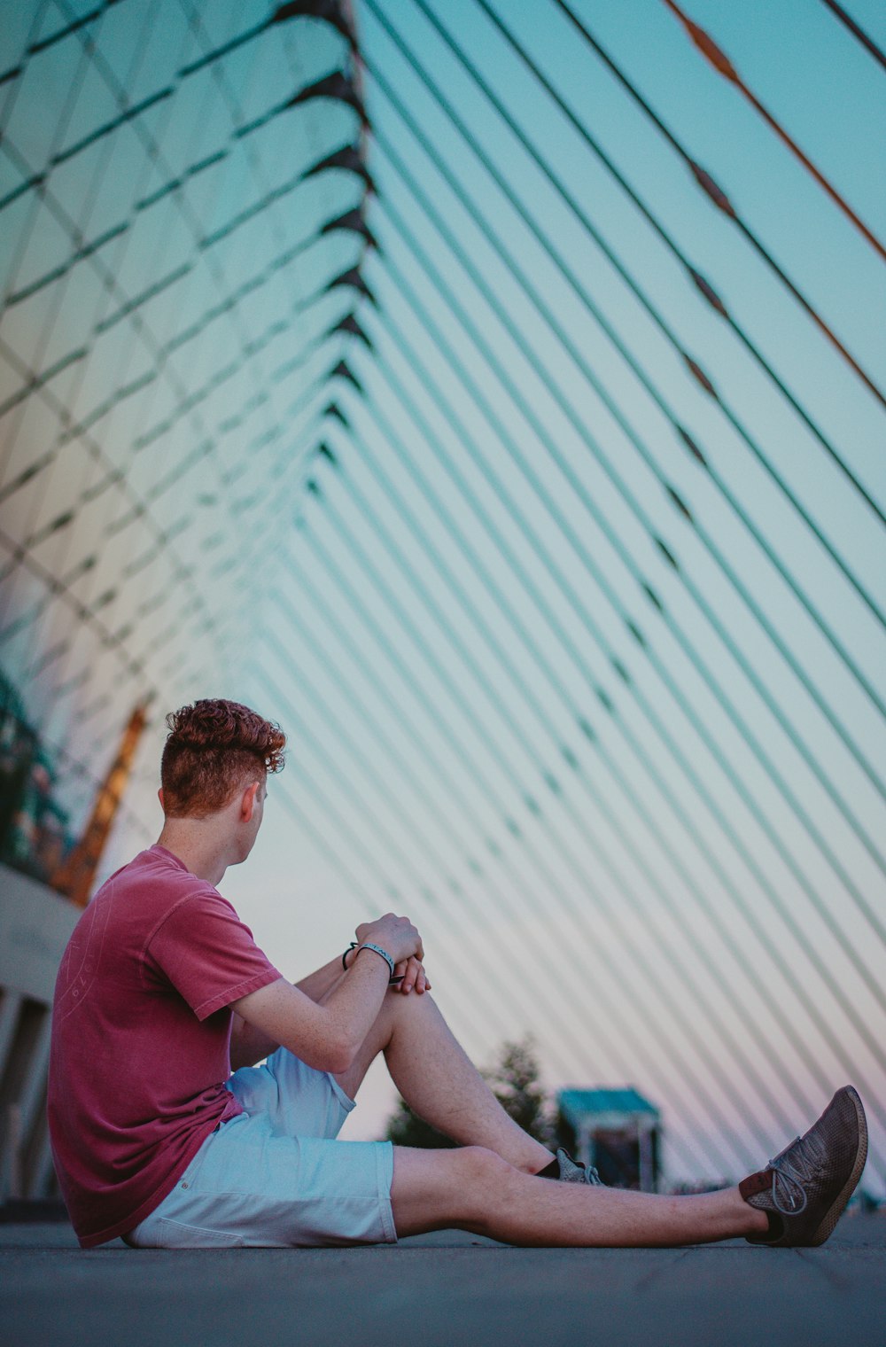
{"type": "Polygon", "coordinates": [[[55,983],[48,1122],[83,1249],[174,1188],[240,1105],[228,1006],[280,977],[230,902],[152,846],[98,890],[55,983]]]}

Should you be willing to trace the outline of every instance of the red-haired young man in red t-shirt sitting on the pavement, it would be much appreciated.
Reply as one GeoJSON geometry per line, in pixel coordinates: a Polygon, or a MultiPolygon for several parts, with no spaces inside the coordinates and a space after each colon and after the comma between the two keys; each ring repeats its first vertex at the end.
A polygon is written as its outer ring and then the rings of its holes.
{"type": "Polygon", "coordinates": [[[407,917],[360,925],[295,985],[268,962],[217,885],[252,851],[285,737],[225,700],[168,726],[160,838],[102,885],[58,975],[50,1133],[83,1247],[350,1245],[452,1226],[516,1245],[827,1239],[867,1154],[855,1090],[738,1188],[602,1187],[500,1107],[428,994],[407,917]],[[458,1149],[335,1140],[380,1052],[458,1149]]]}

